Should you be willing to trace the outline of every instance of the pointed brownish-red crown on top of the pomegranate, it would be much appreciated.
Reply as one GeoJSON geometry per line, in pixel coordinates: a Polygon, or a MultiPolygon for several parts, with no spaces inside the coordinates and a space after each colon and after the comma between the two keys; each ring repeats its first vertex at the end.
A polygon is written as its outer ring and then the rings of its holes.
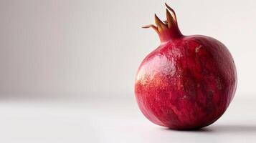
{"type": "Polygon", "coordinates": [[[142,28],[153,28],[158,36],[160,37],[161,42],[170,41],[172,39],[178,39],[181,36],[181,31],[179,31],[178,22],[176,19],[176,13],[174,9],[171,9],[166,3],[166,21],[161,21],[158,16],[155,14],[155,23],[143,26],[142,28]],[[171,11],[171,12],[170,12],[171,11]]]}

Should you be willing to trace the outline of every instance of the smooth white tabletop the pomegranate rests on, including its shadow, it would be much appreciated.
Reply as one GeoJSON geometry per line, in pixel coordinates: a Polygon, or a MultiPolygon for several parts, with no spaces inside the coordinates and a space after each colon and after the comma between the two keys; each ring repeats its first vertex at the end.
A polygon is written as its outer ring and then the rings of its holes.
{"type": "MultiPolygon", "coordinates": [[[[256,99],[256,98],[255,98],[256,99]]],[[[237,96],[214,124],[173,131],[123,99],[1,99],[2,142],[256,142],[255,99],[237,96]]]]}

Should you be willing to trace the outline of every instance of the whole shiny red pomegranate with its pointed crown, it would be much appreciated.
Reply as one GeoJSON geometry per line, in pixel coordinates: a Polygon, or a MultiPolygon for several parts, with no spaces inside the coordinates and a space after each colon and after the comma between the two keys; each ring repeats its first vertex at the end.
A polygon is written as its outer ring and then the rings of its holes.
{"type": "Polygon", "coordinates": [[[155,14],[161,44],[142,61],[135,94],[151,122],[170,129],[199,129],[224,114],[237,88],[237,71],[224,44],[209,36],[184,36],[166,4],[166,21],[155,14]]]}

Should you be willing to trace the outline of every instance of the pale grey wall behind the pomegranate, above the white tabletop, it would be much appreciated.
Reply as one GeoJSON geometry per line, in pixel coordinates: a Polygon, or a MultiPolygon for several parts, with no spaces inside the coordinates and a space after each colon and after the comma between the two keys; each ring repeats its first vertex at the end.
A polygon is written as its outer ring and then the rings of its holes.
{"type": "Polygon", "coordinates": [[[222,41],[238,71],[237,95],[255,95],[256,2],[0,1],[1,97],[131,97],[136,70],[158,44],[164,2],[183,34],[222,41]]]}

